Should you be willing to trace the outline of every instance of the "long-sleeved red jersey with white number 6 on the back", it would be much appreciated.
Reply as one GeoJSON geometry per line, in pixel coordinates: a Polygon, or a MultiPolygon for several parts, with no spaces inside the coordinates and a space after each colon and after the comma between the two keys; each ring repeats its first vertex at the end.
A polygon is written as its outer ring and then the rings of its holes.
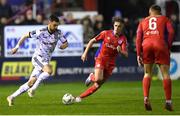
{"type": "Polygon", "coordinates": [[[137,29],[137,55],[141,55],[142,46],[145,44],[153,43],[157,47],[168,46],[168,48],[170,49],[172,46],[173,38],[174,29],[167,17],[162,15],[146,17],[139,23],[137,29]]]}

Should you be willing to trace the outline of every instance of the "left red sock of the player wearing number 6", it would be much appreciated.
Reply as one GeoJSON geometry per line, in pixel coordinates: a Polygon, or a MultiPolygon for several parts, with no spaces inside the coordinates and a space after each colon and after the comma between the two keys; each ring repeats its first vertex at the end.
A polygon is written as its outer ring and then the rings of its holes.
{"type": "Polygon", "coordinates": [[[143,83],[144,97],[149,97],[149,90],[150,90],[150,86],[151,86],[151,78],[150,77],[144,77],[142,83],[143,83]]]}

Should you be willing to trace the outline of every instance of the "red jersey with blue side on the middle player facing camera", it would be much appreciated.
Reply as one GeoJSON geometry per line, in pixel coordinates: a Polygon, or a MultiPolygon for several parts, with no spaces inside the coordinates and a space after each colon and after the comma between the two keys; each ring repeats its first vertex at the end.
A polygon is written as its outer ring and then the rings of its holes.
{"type": "Polygon", "coordinates": [[[127,39],[124,35],[116,37],[113,30],[102,31],[95,37],[97,41],[102,40],[101,47],[96,53],[97,58],[107,58],[115,60],[118,55],[117,46],[121,46],[122,51],[127,51],[127,39]]]}

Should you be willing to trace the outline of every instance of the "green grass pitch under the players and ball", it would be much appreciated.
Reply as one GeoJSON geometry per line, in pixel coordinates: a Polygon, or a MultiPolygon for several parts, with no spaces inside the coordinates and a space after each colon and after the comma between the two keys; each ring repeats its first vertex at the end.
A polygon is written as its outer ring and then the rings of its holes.
{"type": "Polygon", "coordinates": [[[8,107],[6,97],[15,91],[17,85],[0,86],[0,115],[79,115],[79,114],[180,114],[180,81],[173,81],[173,105],[175,111],[164,109],[164,92],[161,81],[153,81],[151,104],[153,111],[144,110],[141,82],[107,82],[94,95],[81,103],[63,105],[62,96],[69,92],[79,95],[86,87],[79,83],[43,84],[31,99],[27,93],[17,97],[15,105],[8,107]]]}

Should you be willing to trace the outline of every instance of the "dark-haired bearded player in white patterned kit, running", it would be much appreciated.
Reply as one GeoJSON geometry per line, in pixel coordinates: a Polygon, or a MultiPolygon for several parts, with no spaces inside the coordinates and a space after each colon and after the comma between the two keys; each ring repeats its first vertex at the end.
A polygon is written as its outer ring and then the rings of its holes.
{"type": "Polygon", "coordinates": [[[51,15],[46,28],[35,30],[23,35],[17,45],[12,49],[12,54],[15,54],[25,39],[37,39],[36,50],[32,56],[34,69],[29,80],[25,84],[21,85],[17,91],[7,97],[9,106],[13,106],[14,99],[26,91],[28,91],[28,95],[30,97],[33,97],[39,84],[52,74],[53,71],[49,62],[56,45],[60,49],[68,47],[66,38],[63,36],[61,30],[57,29],[58,24],[59,18],[55,15],[51,15]]]}

